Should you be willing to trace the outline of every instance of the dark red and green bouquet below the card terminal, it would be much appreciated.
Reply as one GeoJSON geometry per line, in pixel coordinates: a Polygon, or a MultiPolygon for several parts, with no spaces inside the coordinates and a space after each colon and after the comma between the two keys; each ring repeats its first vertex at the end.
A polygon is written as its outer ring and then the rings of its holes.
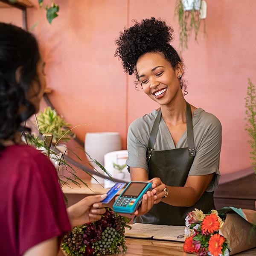
{"type": "Polygon", "coordinates": [[[99,221],[74,227],[64,236],[61,248],[69,256],[101,256],[125,253],[125,227],[130,218],[121,216],[106,207],[106,212],[99,221]]]}

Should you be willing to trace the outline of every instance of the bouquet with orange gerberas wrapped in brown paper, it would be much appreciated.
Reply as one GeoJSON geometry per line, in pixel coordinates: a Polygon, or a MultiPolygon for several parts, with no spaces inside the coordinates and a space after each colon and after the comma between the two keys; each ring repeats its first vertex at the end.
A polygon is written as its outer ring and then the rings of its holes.
{"type": "Polygon", "coordinates": [[[231,250],[234,254],[253,248],[256,246],[256,232],[251,233],[253,214],[255,211],[234,207],[207,214],[198,209],[189,212],[185,218],[184,251],[200,256],[228,256],[231,250]]]}

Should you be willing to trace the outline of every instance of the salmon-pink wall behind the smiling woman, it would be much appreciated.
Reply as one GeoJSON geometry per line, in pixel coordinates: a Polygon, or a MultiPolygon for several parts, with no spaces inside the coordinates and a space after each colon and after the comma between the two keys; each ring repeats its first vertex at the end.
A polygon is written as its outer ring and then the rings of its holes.
{"type": "MultiPolygon", "coordinates": [[[[114,40],[132,19],[161,17],[175,29],[175,1],[170,0],[77,0],[56,1],[59,17],[47,23],[44,10],[28,10],[33,33],[46,61],[47,84],[55,108],[76,128],[86,132],[118,131],[126,148],[128,125],[157,108],[134,89],[134,77],[123,73],[114,58],[114,40]]],[[[192,39],[183,52],[188,80],[186,100],[217,116],[222,123],[221,173],[250,167],[249,139],[244,131],[244,97],[247,78],[256,84],[256,2],[247,0],[207,1],[207,36],[192,39]]]]}

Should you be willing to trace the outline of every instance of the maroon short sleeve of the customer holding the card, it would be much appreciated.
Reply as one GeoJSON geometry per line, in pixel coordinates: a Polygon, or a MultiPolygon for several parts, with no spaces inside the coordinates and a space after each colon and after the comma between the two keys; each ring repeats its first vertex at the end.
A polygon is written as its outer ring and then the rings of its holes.
{"type": "Polygon", "coordinates": [[[38,153],[33,159],[23,160],[22,164],[26,166],[26,172],[20,172],[15,197],[20,255],[34,245],[62,236],[71,229],[52,163],[38,153]]]}

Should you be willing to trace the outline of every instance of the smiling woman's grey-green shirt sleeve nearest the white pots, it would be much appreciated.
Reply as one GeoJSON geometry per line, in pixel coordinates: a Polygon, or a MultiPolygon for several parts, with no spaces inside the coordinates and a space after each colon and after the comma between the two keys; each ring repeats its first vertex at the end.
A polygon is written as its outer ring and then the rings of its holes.
{"type": "MultiPolygon", "coordinates": [[[[137,135],[136,122],[132,123],[128,129],[127,135],[127,151],[128,159],[126,164],[130,167],[139,167],[148,170],[146,152],[147,147],[143,142],[142,135],[137,135]]],[[[144,134],[148,136],[148,134],[144,134]]]]}

